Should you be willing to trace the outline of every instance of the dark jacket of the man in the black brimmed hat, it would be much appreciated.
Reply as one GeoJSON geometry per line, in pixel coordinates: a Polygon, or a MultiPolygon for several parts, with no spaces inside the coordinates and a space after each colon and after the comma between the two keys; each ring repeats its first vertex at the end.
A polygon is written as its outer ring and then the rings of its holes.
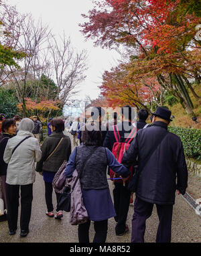
{"type": "Polygon", "coordinates": [[[123,155],[122,164],[127,168],[131,164],[139,165],[141,174],[136,195],[145,202],[174,204],[176,189],[182,194],[186,192],[188,170],[182,141],[177,135],[168,132],[167,125],[163,122],[157,121],[151,127],[137,131],[135,139],[123,155]],[[141,170],[156,139],[164,133],[167,136],[141,170]]]}

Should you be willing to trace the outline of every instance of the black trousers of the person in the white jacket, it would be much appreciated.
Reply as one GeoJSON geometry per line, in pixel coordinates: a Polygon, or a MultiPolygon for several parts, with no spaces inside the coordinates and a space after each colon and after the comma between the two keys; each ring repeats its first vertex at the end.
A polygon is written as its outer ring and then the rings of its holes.
{"type": "Polygon", "coordinates": [[[33,184],[9,185],[7,184],[7,219],[9,230],[17,229],[18,207],[19,207],[19,187],[21,190],[21,231],[29,229],[31,218],[31,204],[33,200],[33,184]]]}

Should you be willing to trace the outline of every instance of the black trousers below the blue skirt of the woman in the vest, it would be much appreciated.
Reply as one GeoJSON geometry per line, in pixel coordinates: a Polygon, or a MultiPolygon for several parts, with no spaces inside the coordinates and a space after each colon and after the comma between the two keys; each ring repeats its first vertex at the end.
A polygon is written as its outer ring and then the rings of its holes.
{"type": "MultiPolygon", "coordinates": [[[[79,243],[89,243],[90,220],[84,224],[78,225],[79,243]]],[[[94,239],[93,243],[105,243],[107,238],[108,220],[94,221],[94,239]]]]}

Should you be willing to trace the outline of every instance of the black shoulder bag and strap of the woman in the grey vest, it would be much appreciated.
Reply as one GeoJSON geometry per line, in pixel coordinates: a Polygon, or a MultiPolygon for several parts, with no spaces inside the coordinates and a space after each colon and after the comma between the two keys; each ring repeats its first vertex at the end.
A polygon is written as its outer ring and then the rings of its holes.
{"type": "Polygon", "coordinates": [[[80,173],[78,173],[78,176],[76,177],[76,180],[71,188],[71,186],[66,186],[66,188],[64,188],[64,191],[62,192],[59,200],[58,200],[58,204],[57,204],[57,211],[58,210],[65,210],[65,212],[70,212],[70,200],[71,200],[71,193],[74,190],[76,183],[78,182],[78,179],[80,178],[80,176],[82,175],[82,172],[86,166],[86,163],[88,162],[88,159],[90,159],[90,157],[92,157],[92,155],[96,152],[96,150],[98,149],[98,147],[95,149],[95,151],[93,153],[90,153],[87,157],[86,160],[84,161],[84,164],[82,165],[82,168],[80,168],[80,173]]]}

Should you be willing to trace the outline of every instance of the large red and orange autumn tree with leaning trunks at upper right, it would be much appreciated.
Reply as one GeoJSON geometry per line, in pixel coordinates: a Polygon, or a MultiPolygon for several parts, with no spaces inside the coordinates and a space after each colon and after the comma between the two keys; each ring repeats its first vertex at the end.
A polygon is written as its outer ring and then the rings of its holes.
{"type": "MultiPolygon", "coordinates": [[[[136,78],[153,77],[163,90],[177,97],[187,113],[193,114],[188,88],[194,90],[190,88],[189,78],[200,79],[195,27],[201,20],[188,11],[180,11],[178,15],[181,3],[169,0],[99,1],[96,8],[83,15],[88,22],[80,26],[86,38],[95,40],[95,45],[112,48],[123,44],[131,48],[131,52],[133,50],[125,68],[130,84],[136,78]]],[[[195,92],[194,96],[199,99],[195,92]]]]}

